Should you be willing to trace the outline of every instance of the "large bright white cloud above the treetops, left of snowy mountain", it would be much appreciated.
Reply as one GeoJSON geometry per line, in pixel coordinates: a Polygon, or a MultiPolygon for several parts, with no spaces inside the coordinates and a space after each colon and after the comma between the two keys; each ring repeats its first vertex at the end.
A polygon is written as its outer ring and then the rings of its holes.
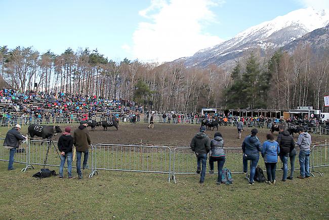
{"type": "Polygon", "coordinates": [[[153,0],[139,12],[149,22],[138,24],[133,34],[133,55],[142,61],[172,61],[219,44],[218,36],[203,31],[215,23],[212,7],[221,0],[153,0]]]}

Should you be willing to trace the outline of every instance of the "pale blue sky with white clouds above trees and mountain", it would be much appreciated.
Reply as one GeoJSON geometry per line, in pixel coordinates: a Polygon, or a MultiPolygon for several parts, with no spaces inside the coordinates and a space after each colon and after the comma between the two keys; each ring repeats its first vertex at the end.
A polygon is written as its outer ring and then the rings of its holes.
{"type": "Polygon", "coordinates": [[[61,54],[98,49],[108,59],[171,61],[263,21],[328,0],[0,0],[0,46],[61,54]]]}

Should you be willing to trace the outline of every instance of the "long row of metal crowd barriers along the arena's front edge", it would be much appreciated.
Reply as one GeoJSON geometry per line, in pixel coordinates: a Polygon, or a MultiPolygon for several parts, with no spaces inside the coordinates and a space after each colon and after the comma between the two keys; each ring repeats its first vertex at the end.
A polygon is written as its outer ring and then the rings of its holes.
{"type": "MultiPolygon", "coordinates": [[[[0,138],[3,141],[4,138],[0,138]]],[[[98,174],[98,170],[116,170],[131,172],[149,172],[168,174],[168,182],[171,178],[176,183],[178,174],[195,174],[197,169],[197,159],[195,154],[188,146],[170,147],[170,146],[153,146],[136,144],[96,144],[91,145],[91,152],[88,160],[88,170],[91,171],[89,177],[98,174]]],[[[3,145],[3,144],[2,144],[3,145]]],[[[24,151],[15,154],[15,163],[25,164],[22,171],[33,168],[33,165],[44,165],[47,150],[49,154],[47,166],[59,167],[60,158],[57,154],[56,140],[31,140],[28,144],[22,144],[24,151]]],[[[224,148],[226,158],[224,167],[231,170],[232,174],[242,174],[242,149],[241,148],[224,148]]],[[[299,167],[299,148],[296,148],[295,169],[299,167]]],[[[60,152],[58,152],[60,153],[60,152]]],[[[208,155],[209,158],[209,155],[208,155]]],[[[0,161],[9,161],[9,150],[0,148],[0,161]]],[[[209,163],[209,162],[208,162],[209,163]]],[[[72,164],[73,165],[73,164],[72,164]]],[[[217,170],[217,163],[214,164],[217,170]]],[[[258,165],[266,171],[263,158],[260,156],[258,165]]],[[[325,141],[313,143],[310,154],[310,167],[312,172],[317,172],[315,167],[329,166],[329,144],[325,141]],[[324,144],[321,144],[324,143],[324,144]]],[[[67,166],[65,166],[67,167],[67,166]]],[[[76,168],[76,166],[72,166],[76,168]]],[[[282,169],[282,162],[278,159],[277,170],[282,169]]],[[[288,168],[291,169],[290,163],[288,168]]],[[[209,167],[207,168],[209,173],[209,167]]],[[[217,173],[217,172],[215,172],[217,173]]],[[[312,173],[311,173],[312,174],[312,173]]],[[[314,176],[314,174],[312,174],[314,176]]],[[[248,174],[246,175],[248,178],[248,174]]]]}

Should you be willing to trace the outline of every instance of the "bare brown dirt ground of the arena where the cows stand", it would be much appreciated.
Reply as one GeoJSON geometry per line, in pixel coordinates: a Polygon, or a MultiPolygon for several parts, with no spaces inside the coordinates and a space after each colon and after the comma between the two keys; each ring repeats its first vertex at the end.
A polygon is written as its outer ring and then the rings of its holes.
{"type": "MultiPolygon", "coordinates": [[[[146,123],[120,123],[119,129],[116,131],[114,127],[108,128],[107,131],[103,131],[103,127],[96,127],[95,131],[89,129],[89,134],[92,139],[92,144],[97,143],[112,143],[112,144],[134,144],[143,142],[144,144],[151,145],[166,145],[166,146],[189,146],[192,137],[199,130],[200,125],[195,124],[154,124],[154,129],[149,129],[146,123]]],[[[72,126],[75,129],[76,126],[72,126]]],[[[224,138],[224,144],[226,147],[239,148],[246,135],[250,135],[252,128],[245,128],[242,132],[242,138],[237,138],[236,127],[222,126],[218,128],[218,131],[222,133],[224,138]]],[[[258,137],[261,142],[266,140],[266,134],[270,129],[258,128],[258,137]]],[[[205,133],[213,138],[215,130],[207,130],[205,133]]],[[[274,132],[274,138],[276,139],[278,132],[274,132]]],[[[312,134],[312,142],[323,141],[329,135],[312,134]]],[[[298,138],[298,134],[294,135],[295,140],[298,138]]],[[[57,135],[56,139],[59,136],[57,135]]]]}

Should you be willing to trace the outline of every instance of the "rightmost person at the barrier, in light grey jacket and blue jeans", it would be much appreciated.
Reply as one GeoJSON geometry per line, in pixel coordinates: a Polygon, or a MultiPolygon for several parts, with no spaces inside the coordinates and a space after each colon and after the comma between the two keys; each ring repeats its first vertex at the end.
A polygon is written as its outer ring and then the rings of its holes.
{"type": "Polygon", "coordinates": [[[303,127],[298,129],[299,136],[297,145],[299,146],[299,165],[300,165],[300,179],[310,177],[310,145],[312,142],[311,135],[304,131],[303,127]]]}

